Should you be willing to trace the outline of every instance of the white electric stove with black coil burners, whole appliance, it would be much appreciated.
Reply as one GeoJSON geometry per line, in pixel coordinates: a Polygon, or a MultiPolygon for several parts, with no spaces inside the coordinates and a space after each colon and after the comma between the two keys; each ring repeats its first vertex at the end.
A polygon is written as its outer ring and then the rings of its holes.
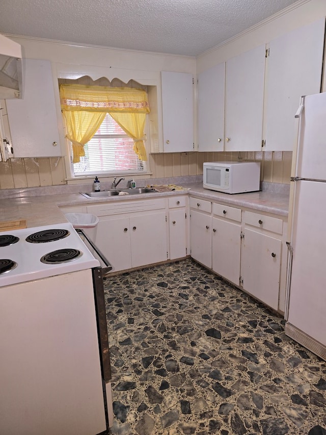
{"type": "Polygon", "coordinates": [[[102,276],[71,223],[0,233],[0,433],[107,433],[102,276]]]}

